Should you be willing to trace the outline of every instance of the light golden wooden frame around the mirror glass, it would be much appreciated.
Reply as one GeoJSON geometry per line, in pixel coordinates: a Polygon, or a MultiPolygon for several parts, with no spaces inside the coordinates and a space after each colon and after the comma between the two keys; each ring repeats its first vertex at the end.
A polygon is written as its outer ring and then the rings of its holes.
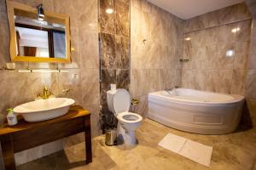
{"type": "Polygon", "coordinates": [[[29,13],[38,14],[37,8],[32,8],[23,3],[16,3],[10,0],[7,3],[7,14],[9,20],[10,44],[9,54],[12,61],[26,61],[26,62],[53,62],[53,63],[70,63],[71,62],[71,49],[70,49],[70,28],[69,16],[67,14],[56,14],[44,10],[46,16],[65,20],[65,37],[66,37],[66,59],[43,58],[35,56],[19,56],[16,51],[16,32],[15,32],[15,8],[29,13]]]}

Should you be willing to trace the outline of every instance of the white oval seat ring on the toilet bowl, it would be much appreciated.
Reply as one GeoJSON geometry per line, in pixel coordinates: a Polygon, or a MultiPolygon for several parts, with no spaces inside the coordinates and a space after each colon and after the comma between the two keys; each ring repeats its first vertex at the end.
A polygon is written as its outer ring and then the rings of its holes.
{"type": "Polygon", "coordinates": [[[117,118],[120,122],[125,122],[125,123],[137,123],[137,122],[143,121],[142,116],[136,113],[127,112],[127,111],[119,113],[117,118]]]}

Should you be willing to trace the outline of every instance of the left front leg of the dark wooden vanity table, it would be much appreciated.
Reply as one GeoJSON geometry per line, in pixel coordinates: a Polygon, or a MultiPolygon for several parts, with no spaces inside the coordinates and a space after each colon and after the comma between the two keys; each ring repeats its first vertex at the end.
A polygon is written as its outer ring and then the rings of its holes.
{"type": "Polygon", "coordinates": [[[5,170],[15,170],[15,154],[11,136],[8,134],[4,135],[0,140],[5,170]]]}

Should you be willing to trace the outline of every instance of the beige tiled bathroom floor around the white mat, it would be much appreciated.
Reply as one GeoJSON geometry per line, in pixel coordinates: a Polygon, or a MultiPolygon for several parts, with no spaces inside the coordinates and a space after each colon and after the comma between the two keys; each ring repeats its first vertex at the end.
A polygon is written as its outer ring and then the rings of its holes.
{"type": "Polygon", "coordinates": [[[137,139],[139,144],[130,150],[105,146],[103,136],[93,139],[93,162],[89,165],[84,164],[84,144],[77,144],[65,151],[23,164],[18,169],[256,170],[256,128],[226,135],[200,135],[177,131],[146,119],[137,130],[137,139]],[[213,146],[210,167],[204,167],[160,148],[157,144],[166,133],[174,133],[213,146]]]}

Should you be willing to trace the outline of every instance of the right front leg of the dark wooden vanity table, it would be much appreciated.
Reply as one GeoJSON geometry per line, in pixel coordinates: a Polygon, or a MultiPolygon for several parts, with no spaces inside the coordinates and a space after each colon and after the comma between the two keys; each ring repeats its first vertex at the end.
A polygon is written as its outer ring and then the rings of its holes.
{"type": "Polygon", "coordinates": [[[86,164],[88,164],[92,161],[91,135],[90,135],[90,116],[85,116],[85,118],[84,118],[84,137],[85,137],[86,164]]]}

